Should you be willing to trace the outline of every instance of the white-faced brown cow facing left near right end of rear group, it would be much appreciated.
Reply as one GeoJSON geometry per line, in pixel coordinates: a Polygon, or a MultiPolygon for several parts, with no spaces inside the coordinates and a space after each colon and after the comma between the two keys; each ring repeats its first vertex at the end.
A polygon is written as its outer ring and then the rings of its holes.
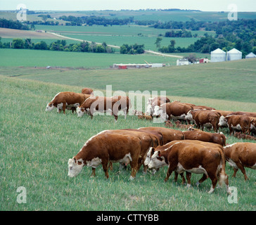
{"type": "Polygon", "coordinates": [[[243,134],[250,134],[250,118],[246,115],[227,115],[219,118],[219,126],[229,127],[230,135],[235,130],[242,131],[243,134]]]}

